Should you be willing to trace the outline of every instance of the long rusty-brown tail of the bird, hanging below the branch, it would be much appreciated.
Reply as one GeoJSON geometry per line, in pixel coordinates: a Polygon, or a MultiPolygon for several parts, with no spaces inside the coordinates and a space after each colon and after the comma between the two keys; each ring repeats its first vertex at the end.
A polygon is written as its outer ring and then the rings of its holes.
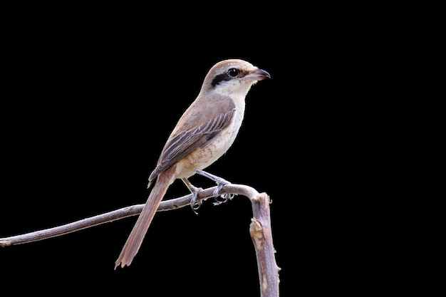
{"type": "Polygon", "coordinates": [[[145,202],[145,206],[142,208],[142,212],[138,217],[133,230],[130,232],[127,241],[125,241],[125,245],[118,260],[115,262],[115,269],[119,265],[124,267],[125,265],[129,266],[132,263],[133,258],[140,249],[145,233],[147,232],[147,229],[149,229],[150,223],[160,206],[162,197],[164,197],[167,188],[173,182],[172,179],[173,177],[170,170],[166,170],[158,175],[155,186],[153,187],[152,192],[150,192],[147,202],[145,202]]]}

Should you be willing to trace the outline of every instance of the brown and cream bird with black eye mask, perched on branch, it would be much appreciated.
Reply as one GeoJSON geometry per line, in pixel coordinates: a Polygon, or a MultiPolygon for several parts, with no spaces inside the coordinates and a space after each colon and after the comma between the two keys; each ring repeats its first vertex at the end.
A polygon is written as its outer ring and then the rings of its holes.
{"type": "Polygon", "coordinates": [[[181,179],[192,193],[193,209],[199,206],[196,202],[199,188],[189,182],[189,177],[201,174],[216,182],[214,197],[218,197],[224,184],[229,184],[226,179],[204,169],[232,146],[242,125],[245,97],[251,86],[270,77],[268,72],[239,58],[219,61],[209,69],[197,97],[182,114],[162,148],[147,188],[154,181],[155,184],[115,261],[115,269],[130,266],[160,202],[176,179],[181,179]]]}

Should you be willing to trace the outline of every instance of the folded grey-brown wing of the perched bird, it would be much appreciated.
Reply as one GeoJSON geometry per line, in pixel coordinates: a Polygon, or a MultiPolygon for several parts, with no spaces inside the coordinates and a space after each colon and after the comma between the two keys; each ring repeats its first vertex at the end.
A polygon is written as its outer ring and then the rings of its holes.
{"type": "Polygon", "coordinates": [[[175,162],[185,157],[197,147],[206,147],[219,132],[231,123],[234,113],[234,105],[229,106],[224,113],[219,113],[201,125],[180,132],[167,140],[165,147],[162,149],[157,167],[150,174],[149,180],[155,179],[158,174],[175,164],[175,162]]]}

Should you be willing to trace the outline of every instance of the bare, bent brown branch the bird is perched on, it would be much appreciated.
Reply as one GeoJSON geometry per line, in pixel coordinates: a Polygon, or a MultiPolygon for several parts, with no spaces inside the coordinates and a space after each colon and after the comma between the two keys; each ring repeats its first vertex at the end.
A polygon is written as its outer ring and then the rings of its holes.
{"type": "MultiPolygon", "coordinates": [[[[214,189],[202,189],[197,194],[197,202],[214,197],[214,189]]],[[[269,216],[269,197],[265,193],[259,194],[256,189],[243,184],[225,184],[219,194],[243,195],[251,200],[253,219],[251,219],[250,234],[256,250],[257,265],[259,268],[259,281],[261,297],[279,297],[279,267],[274,258],[274,246],[272,244],[271,219],[269,216]]],[[[158,211],[178,209],[190,206],[192,194],[176,199],[161,202],[158,211]]],[[[0,238],[0,246],[13,246],[26,244],[33,241],[49,239],[61,236],[74,231],[79,231],[91,226],[97,226],[117,219],[135,216],[140,214],[144,204],[137,204],[130,207],[114,210],[105,214],[99,214],[87,219],[56,226],[49,229],[33,231],[26,234],[0,238]]]]}

